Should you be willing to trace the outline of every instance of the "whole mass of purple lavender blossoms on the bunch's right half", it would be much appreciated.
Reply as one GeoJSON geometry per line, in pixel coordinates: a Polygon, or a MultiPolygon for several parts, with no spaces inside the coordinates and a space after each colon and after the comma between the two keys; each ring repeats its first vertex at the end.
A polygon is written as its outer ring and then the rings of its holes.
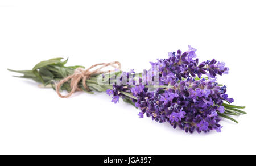
{"type": "Polygon", "coordinates": [[[169,52],[168,55],[167,59],[151,62],[151,68],[144,70],[144,74],[139,77],[135,77],[134,70],[126,73],[127,76],[134,74],[130,83],[137,79],[138,82],[147,84],[114,84],[113,92],[107,90],[108,94],[114,96],[112,101],[116,103],[116,97],[126,99],[127,96],[121,92],[131,93],[131,102],[141,110],[139,118],[146,114],[156,122],[170,123],[174,128],[179,127],[185,132],[220,132],[220,116],[224,116],[223,113],[231,114],[231,111],[226,111],[228,107],[224,107],[224,101],[231,103],[233,98],[228,98],[226,86],[219,85],[216,76],[228,74],[229,68],[225,67],[225,63],[217,63],[214,59],[199,63],[196,49],[191,46],[186,52],[178,50],[177,53],[169,52]],[[152,71],[156,66],[159,70],[154,73],[152,71]],[[159,78],[159,86],[153,91],[150,90],[151,84],[145,74],[150,72],[153,73],[153,78],[159,78]]]}

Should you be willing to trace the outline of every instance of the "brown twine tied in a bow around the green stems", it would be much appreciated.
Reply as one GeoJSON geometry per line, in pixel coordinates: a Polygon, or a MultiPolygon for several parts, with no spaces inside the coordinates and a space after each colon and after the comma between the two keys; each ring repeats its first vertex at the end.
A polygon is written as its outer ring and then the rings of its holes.
{"type": "Polygon", "coordinates": [[[70,97],[74,92],[76,91],[81,91],[82,89],[79,88],[78,84],[80,82],[80,80],[82,80],[82,86],[84,86],[84,88],[88,91],[90,91],[90,89],[88,88],[88,86],[86,85],[86,80],[92,76],[92,74],[100,74],[100,73],[107,73],[107,72],[114,72],[115,70],[108,70],[108,71],[101,71],[102,68],[111,66],[115,69],[121,69],[121,63],[119,63],[119,61],[113,61],[111,63],[100,63],[100,64],[95,64],[92,65],[91,67],[89,67],[88,69],[83,69],[83,68],[77,68],[75,69],[74,73],[66,78],[64,78],[63,80],[61,80],[60,82],[57,83],[56,85],[56,92],[59,95],[59,97],[61,98],[68,98],[70,97]],[[118,66],[116,66],[115,64],[117,64],[118,66]],[[102,65],[102,67],[97,68],[93,71],[90,71],[90,69],[97,67],[99,65],[102,65]],[[60,94],[60,87],[61,85],[63,85],[65,82],[68,82],[69,80],[71,80],[70,82],[70,87],[71,87],[71,91],[63,96],[62,94],[60,94]]]}

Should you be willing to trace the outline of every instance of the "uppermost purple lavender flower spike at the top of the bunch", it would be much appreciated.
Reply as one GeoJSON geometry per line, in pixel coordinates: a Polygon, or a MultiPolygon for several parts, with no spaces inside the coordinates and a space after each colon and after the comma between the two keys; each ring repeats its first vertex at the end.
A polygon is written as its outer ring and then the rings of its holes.
{"type": "MultiPolygon", "coordinates": [[[[152,67],[158,65],[160,72],[163,74],[161,79],[164,82],[168,77],[168,82],[175,81],[175,77],[169,74],[175,74],[179,80],[187,78],[189,76],[201,78],[203,74],[210,78],[216,77],[216,74],[222,75],[227,74],[229,68],[225,67],[225,63],[217,63],[216,60],[203,61],[199,64],[199,59],[196,58],[196,49],[189,45],[187,52],[182,53],[180,50],[175,52],[169,52],[168,59],[159,59],[157,63],[151,63],[152,67]],[[216,64],[217,63],[217,64],[216,64]],[[170,77],[173,79],[170,80],[170,77]]],[[[165,82],[166,83],[166,82],[165,82]]]]}

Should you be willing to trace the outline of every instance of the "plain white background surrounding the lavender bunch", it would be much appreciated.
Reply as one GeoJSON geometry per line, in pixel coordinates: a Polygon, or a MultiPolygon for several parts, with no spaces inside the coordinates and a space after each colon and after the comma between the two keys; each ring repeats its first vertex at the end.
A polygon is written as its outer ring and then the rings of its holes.
{"type": "Polygon", "coordinates": [[[256,153],[255,1],[0,1],[0,153],[256,153]],[[59,98],[11,69],[53,57],[68,65],[121,61],[140,72],[187,45],[200,61],[225,61],[218,77],[247,115],[222,121],[221,133],[185,134],[139,119],[133,106],[105,93],[59,98]]]}

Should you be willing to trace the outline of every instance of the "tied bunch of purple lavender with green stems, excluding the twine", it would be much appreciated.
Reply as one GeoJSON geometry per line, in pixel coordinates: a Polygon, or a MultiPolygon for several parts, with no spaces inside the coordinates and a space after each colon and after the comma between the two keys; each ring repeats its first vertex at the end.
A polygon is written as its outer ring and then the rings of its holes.
{"type": "MultiPolygon", "coordinates": [[[[56,88],[56,82],[73,74],[82,66],[66,67],[67,60],[51,59],[36,64],[32,70],[10,70],[22,73],[22,78],[30,78],[43,83],[43,87],[56,88]]],[[[196,49],[169,52],[167,59],[151,62],[151,68],[142,73],[116,71],[94,74],[82,80],[78,88],[88,93],[105,92],[112,96],[112,102],[119,99],[137,107],[139,118],[144,115],[152,120],[168,122],[185,132],[221,131],[221,118],[238,123],[231,116],[246,114],[243,106],[231,105],[234,100],[226,94],[226,86],[216,82],[216,76],[228,74],[225,63],[214,59],[199,63],[196,49]]],[[[65,82],[61,90],[71,91],[70,82],[65,82]]]]}

